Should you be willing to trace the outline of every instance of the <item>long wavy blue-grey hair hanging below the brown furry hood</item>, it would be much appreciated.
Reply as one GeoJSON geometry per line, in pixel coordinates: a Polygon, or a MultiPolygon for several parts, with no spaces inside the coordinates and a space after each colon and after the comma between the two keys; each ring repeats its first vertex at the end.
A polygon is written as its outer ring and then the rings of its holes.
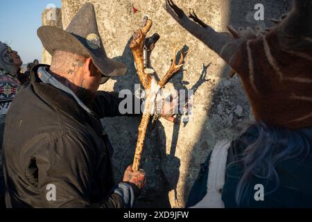
{"type": "Polygon", "coordinates": [[[241,142],[245,143],[247,148],[237,157],[237,161],[232,163],[243,165],[243,176],[239,180],[235,193],[237,205],[241,205],[245,200],[249,202],[252,190],[250,180],[254,177],[274,182],[275,189],[266,194],[276,191],[280,181],[275,167],[284,160],[293,158],[304,160],[311,152],[311,135],[312,128],[289,130],[269,126],[263,122],[249,124],[243,136],[240,137],[241,142]],[[247,132],[250,131],[257,133],[253,141],[247,137],[247,132]]]}

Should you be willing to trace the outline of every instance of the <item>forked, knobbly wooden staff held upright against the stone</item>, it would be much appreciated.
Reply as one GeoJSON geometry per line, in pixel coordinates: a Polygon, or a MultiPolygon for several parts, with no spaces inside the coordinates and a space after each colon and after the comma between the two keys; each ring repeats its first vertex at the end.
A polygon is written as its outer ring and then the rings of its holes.
{"type": "Polygon", "coordinates": [[[150,121],[150,115],[154,113],[154,105],[157,92],[159,91],[159,89],[164,87],[166,83],[168,83],[168,81],[173,78],[173,76],[175,76],[175,74],[180,72],[180,68],[183,66],[184,56],[187,53],[182,53],[182,51],[180,51],[180,60],[176,65],[175,62],[177,47],[175,47],[175,49],[173,50],[174,54],[172,65],[170,69],[168,69],[168,71],[166,72],[164,78],[159,81],[159,83],[157,83],[155,77],[150,76],[150,74],[146,74],[146,72],[144,71],[143,47],[146,34],[148,33],[148,31],[150,31],[152,24],[152,20],[146,19],[144,27],[139,28],[139,30],[135,32],[132,38],[132,42],[130,43],[130,48],[132,49],[133,57],[135,59],[137,74],[146,92],[146,103],[144,106],[141,123],[139,125],[139,136],[137,139],[137,146],[135,148],[135,157],[132,164],[132,171],[139,170],[139,162],[141,160],[141,155],[143,151],[146,130],[150,121]]]}

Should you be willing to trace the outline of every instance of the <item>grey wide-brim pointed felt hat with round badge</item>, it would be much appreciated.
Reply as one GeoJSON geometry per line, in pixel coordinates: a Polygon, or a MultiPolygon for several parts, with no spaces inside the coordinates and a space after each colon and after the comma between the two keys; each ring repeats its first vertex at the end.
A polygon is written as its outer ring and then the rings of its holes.
{"type": "Polygon", "coordinates": [[[41,26],[37,29],[37,35],[51,55],[59,50],[92,58],[94,65],[103,74],[103,79],[107,76],[122,76],[127,71],[123,63],[107,57],[92,3],[85,3],[80,8],[65,31],[55,26],[41,26]]]}

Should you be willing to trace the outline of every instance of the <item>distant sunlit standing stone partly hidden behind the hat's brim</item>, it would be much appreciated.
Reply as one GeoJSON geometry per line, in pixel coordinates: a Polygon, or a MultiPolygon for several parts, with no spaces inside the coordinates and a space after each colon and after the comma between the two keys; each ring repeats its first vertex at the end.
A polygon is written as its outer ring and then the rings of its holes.
{"type": "MultiPolygon", "coordinates": [[[[42,26],[55,26],[62,28],[62,10],[60,8],[46,8],[42,12],[41,20],[42,26]]],[[[51,55],[44,48],[42,48],[42,63],[48,65],[51,64],[51,55]]]]}

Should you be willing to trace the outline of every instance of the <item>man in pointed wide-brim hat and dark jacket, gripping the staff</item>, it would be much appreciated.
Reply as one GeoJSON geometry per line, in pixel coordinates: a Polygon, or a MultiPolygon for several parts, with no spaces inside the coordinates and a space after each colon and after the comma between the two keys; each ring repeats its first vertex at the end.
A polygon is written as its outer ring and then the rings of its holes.
{"type": "Polygon", "coordinates": [[[126,67],[107,58],[94,6],[83,5],[66,31],[42,26],[37,34],[53,57],[51,67],[33,67],[7,115],[7,207],[131,207],[145,173],[128,167],[114,183],[112,146],[99,118],[120,115],[120,99],[96,92],[126,67]]]}

